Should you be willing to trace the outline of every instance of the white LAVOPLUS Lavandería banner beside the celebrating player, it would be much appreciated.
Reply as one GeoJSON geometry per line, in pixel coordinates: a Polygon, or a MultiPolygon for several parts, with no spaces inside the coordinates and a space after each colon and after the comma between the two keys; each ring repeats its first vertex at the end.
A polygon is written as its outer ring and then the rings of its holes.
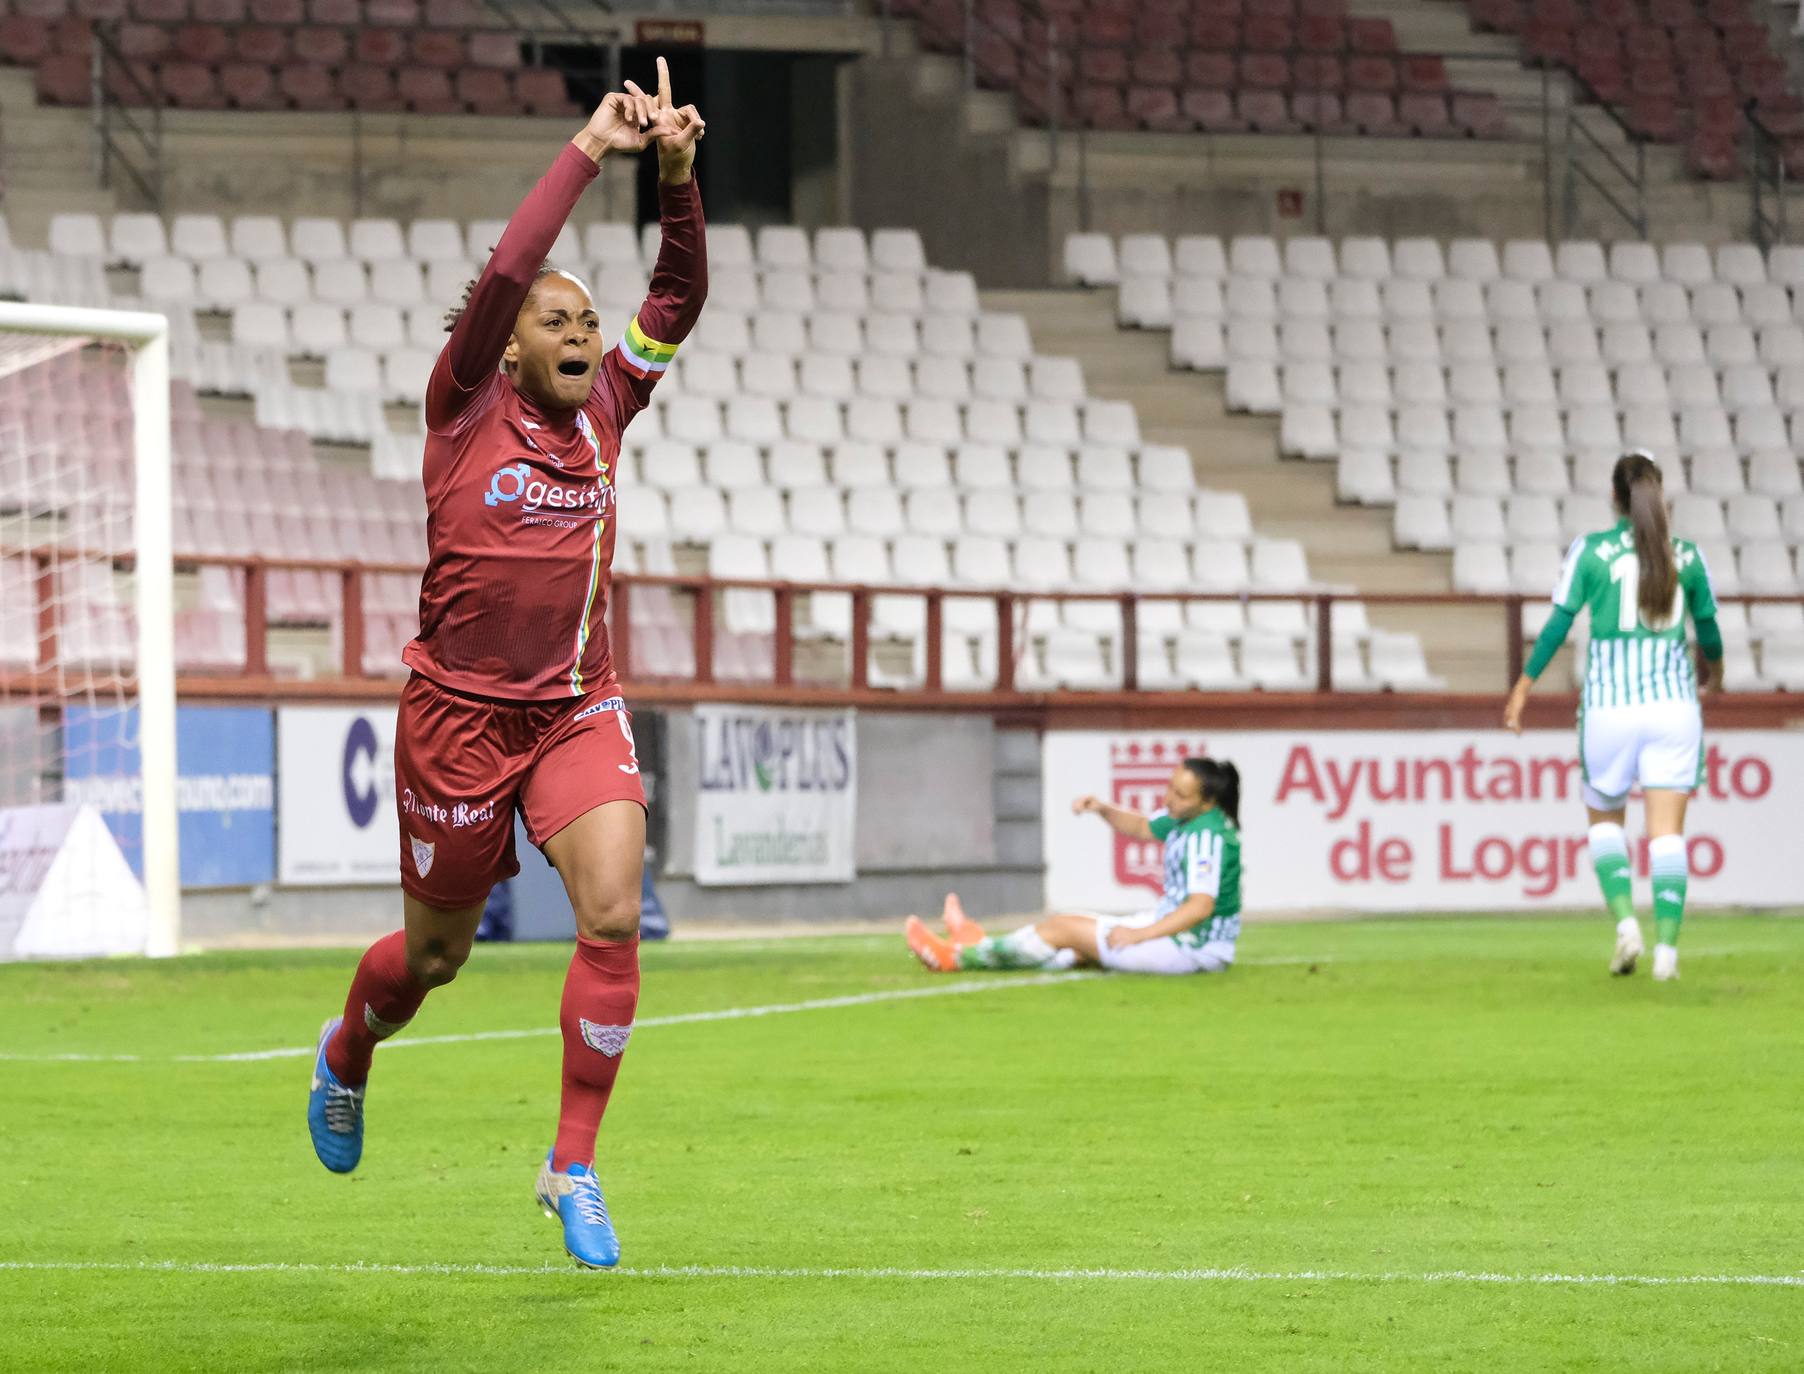
{"type": "Polygon", "coordinates": [[[696,707],[695,723],[695,880],[851,882],[853,712],[696,707]]]}

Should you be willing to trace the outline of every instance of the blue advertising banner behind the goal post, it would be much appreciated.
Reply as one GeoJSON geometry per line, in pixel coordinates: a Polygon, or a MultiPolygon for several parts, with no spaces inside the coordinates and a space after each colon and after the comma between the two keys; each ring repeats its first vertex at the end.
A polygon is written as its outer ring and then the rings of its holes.
{"type": "MultiPolygon", "coordinates": [[[[177,707],[182,887],[276,878],[276,728],[262,707],[177,707]]],[[[144,876],[137,709],[63,709],[63,797],[94,806],[144,876]]]]}

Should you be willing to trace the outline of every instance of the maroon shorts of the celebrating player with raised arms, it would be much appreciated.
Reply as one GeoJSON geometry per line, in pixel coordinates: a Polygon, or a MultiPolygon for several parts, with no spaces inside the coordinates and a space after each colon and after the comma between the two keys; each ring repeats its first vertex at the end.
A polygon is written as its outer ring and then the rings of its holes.
{"type": "Polygon", "coordinates": [[[539,847],[603,802],[646,804],[626,701],[482,701],[415,673],[395,723],[400,887],[471,907],[520,873],[514,810],[539,847]]]}

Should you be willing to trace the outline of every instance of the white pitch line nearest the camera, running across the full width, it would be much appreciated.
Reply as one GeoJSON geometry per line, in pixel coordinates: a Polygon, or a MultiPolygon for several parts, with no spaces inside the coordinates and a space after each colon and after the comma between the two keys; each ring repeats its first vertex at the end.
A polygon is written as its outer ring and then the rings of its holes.
{"type": "MultiPolygon", "coordinates": [[[[428,1277],[568,1277],[594,1278],[595,1271],[568,1264],[209,1264],[186,1260],[0,1260],[11,1273],[296,1273],[296,1275],[428,1275],[428,1277]]],[[[909,1269],[875,1268],[787,1268],[752,1264],[653,1264],[613,1269],[631,1278],[851,1278],[851,1280],[1025,1280],[1043,1284],[1138,1282],[1138,1284],[1485,1284],[1503,1287],[1804,1287],[1804,1273],[1488,1273],[1472,1269],[909,1269]]]]}

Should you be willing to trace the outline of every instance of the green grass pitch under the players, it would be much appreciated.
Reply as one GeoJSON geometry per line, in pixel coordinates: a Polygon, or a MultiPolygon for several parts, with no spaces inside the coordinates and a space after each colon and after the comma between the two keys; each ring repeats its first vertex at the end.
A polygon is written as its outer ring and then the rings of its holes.
{"type": "Polygon", "coordinates": [[[1252,925],[1173,981],[648,947],[613,1275],[532,1203],[563,948],[480,948],[382,1048],[350,1177],[305,1053],[211,1058],[310,1044],[350,952],[4,966],[0,1369],[1804,1369],[1804,921],[1694,916],[1669,986],[1609,945],[1252,925]],[[478,1031],[529,1033],[424,1042],[478,1031]]]}

